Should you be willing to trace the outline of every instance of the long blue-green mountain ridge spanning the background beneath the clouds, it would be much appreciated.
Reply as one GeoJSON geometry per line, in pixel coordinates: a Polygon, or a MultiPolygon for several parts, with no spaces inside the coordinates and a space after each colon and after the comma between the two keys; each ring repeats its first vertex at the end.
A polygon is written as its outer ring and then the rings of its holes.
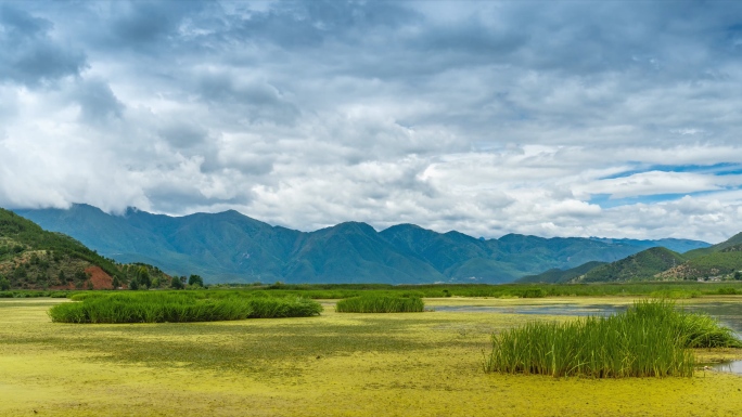
{"type": "MultiPolygon", "coordinates": [[[[589,261],[613,262],[653,240],[542,238],[509,234],[477,239],[413,224],[381,232],[347,222],[315,232],[272,226],[230,210],[184,217],[128,209],[112,216],[88,205],[15,210],[42,227],[68,234],[118,262],[145,262],[208,282],[507,283],[589,261]]],[[[668,242],[704,248],[698,240],[668,242]]]]}

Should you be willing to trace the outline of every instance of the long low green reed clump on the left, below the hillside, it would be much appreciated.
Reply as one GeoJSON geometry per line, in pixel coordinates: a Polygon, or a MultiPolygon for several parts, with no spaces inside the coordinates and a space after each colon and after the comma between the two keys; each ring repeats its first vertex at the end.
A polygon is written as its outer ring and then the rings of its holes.
{"type": "Polygon", "coordinates": [[[55,323],[184,323],[244,318],[306,317],[322,307],[303,298],[202,298],[181,294],[127,294],[80,297],[81,301],[54,305],[55,323]]]}

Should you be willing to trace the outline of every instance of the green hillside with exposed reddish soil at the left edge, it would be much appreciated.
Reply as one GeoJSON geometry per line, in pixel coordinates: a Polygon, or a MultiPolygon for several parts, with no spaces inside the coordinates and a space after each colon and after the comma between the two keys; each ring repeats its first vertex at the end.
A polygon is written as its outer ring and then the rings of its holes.
{"type": "Polygon", "coordinates": [[[3,289],[111,288],[114,283],[128,283],[140,268],[145,268],[154,278],[164,277],[154,266],[117,264],[67,235],[47,232],[12,211],[0,209],[3,289]]]}

